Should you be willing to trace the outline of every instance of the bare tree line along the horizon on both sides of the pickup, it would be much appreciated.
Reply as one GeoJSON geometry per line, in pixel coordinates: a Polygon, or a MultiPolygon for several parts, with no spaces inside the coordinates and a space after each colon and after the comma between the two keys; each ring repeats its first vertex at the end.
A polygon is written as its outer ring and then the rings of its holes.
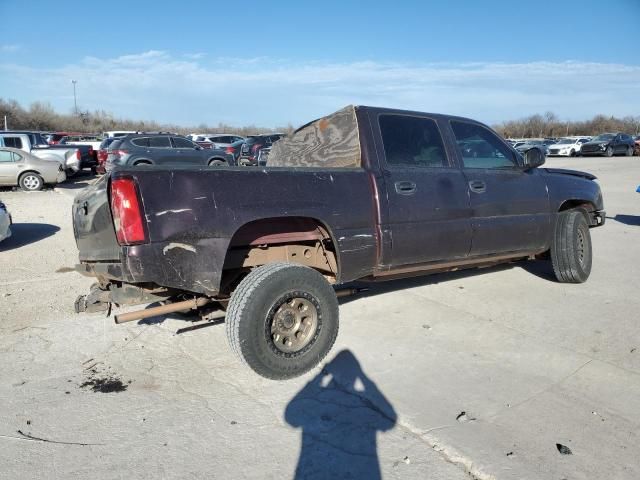
{"type": "MultiPolygon", "coordinates": [[[[7,124],[11,130],[41,130],[58,132],[100,133],[108,130],[134,131],[170,131],[182,134],[191,132],[227,132],[238,135],[268,133],[275,130],[289,133],[293,127],[289,124],[278,129],[247,125],[237,127],[218,123],[207,125],[201,123],[194,126],[178,126],[154,121],[129,120],[116,118],[104,110],[79,112],[70,114],[57,113],[48,103],[34,102],[29,108],[23,108],[15,100],[0,98],[0,122],[7,116],[7,124]]],[[[3,128],[3,124],[2,127],[3,128]]],[[[596,115],[590,120],[561,121],[555,113],[530,115],[519,120],[509,120],[493,128],[505,138],[544,138],[564,137],[570,135],[597,135],[603,132],[625,132],[632,135],[640,133],[640,116],[617,118],[614,116],[596,115]]]]}

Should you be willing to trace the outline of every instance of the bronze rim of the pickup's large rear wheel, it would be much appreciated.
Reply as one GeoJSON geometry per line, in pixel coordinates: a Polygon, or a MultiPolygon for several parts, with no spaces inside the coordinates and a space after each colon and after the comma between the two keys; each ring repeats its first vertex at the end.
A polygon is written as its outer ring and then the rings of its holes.
{"type": "Polygon", "coordinates": [[[318,330],[318,309],[307,298],[292,297],[273,314],[270,335],[277,350],[297,353],[307,347],[318,330]]]}

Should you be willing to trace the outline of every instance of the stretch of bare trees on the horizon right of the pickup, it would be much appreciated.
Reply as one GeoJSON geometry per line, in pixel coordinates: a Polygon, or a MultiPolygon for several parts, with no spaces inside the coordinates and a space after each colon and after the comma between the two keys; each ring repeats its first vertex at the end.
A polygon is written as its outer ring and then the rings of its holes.
{"type": "Polygon", "coordinates": [[[640,116],[617,118],[596,115],[589,120],[562,121],[555,113],[530,115],[519,120],[509,120],[493,125],[505,138],[568,137],[573,135],[598,135],[605,132],[640,133],[640,116]]]}

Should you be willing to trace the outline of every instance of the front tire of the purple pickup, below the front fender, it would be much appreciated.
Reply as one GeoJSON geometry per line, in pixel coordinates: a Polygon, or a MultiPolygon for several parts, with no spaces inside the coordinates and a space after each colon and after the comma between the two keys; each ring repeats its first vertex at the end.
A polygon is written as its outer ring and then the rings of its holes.
{"type": "Polygon", "coordinates": [[[592,264],[591,235],[583,212],[558,213],[551,243],[553,272],[561,283],[584,283],[592,264]]]}

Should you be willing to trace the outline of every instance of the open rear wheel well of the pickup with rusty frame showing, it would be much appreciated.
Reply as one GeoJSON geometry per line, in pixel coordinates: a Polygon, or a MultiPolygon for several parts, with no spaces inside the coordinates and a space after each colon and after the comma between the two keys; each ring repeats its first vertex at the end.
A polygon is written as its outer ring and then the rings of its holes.
{"type": "Polygon", "coordinates": [[[338,278],[335,242],[323,222],[308,217],[273,217],[236,230],[225,257],[221,291],[254,267],[282,261],[314,268],[330,282],[338,278]]]}

